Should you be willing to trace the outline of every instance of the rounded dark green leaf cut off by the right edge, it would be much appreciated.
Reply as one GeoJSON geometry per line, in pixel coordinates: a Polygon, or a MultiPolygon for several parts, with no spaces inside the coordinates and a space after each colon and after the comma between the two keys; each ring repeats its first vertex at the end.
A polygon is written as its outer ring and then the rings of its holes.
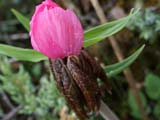
{"type": "Polygon", "coordinates": [[[153,74],[148,73],[145,78],[145,90],[147,95],[154,100],[160,99],[160,77],[153,74]]]}

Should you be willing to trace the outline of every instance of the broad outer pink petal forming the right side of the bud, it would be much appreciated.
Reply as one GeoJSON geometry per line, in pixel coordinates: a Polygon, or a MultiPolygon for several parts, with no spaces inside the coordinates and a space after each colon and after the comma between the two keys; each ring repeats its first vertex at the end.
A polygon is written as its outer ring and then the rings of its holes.
{"type": "Polygon", "coordinates": [[[52,31],[58,36],[58,44],[63,49],[65,56],[79,54],[83,45],[83,29],[77,16],[71,10],[59,7],[49,10],[52,31]]]}

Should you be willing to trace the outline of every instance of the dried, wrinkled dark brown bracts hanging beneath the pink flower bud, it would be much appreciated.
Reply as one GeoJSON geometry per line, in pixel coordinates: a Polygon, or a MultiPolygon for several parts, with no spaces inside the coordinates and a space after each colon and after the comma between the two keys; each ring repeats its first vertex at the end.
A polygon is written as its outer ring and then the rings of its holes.
{"type": "Polygon", "coordinates": [[[84,120],[87,113],[99,110],[102,94],[97,78],[108,92],[111,87],[105,72],[87,51],[82,50],[78,56],[50,59],[50,64],[58,89],[79,119],[84,120]]]}

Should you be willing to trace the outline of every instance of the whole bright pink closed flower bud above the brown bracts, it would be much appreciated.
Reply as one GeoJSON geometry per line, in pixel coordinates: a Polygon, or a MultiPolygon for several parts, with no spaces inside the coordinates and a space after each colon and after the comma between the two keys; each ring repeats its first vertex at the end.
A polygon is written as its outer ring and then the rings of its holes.
{"type": "Polygon", "coordinates": [[[49,58],[78,55],[83,46],[83,28],[75,13],[51,0],[36,6],[30,28],[33,48],[49,58]]]}

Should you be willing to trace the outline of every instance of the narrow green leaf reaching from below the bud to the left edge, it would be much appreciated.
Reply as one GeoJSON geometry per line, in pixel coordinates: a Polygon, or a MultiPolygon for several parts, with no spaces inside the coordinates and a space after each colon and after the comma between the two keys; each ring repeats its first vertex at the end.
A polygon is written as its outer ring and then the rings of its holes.
{"type": "Polygon", "coordinates": [[[31,50],[18,47],[12,47],[9,45],[0,44],[0,54],[7,55],[9,57],[14,57],[18,60],[30,61],[30,62],[39,62],[41,60],[46,60],[47,57],[41,53],[31,50]]]}

